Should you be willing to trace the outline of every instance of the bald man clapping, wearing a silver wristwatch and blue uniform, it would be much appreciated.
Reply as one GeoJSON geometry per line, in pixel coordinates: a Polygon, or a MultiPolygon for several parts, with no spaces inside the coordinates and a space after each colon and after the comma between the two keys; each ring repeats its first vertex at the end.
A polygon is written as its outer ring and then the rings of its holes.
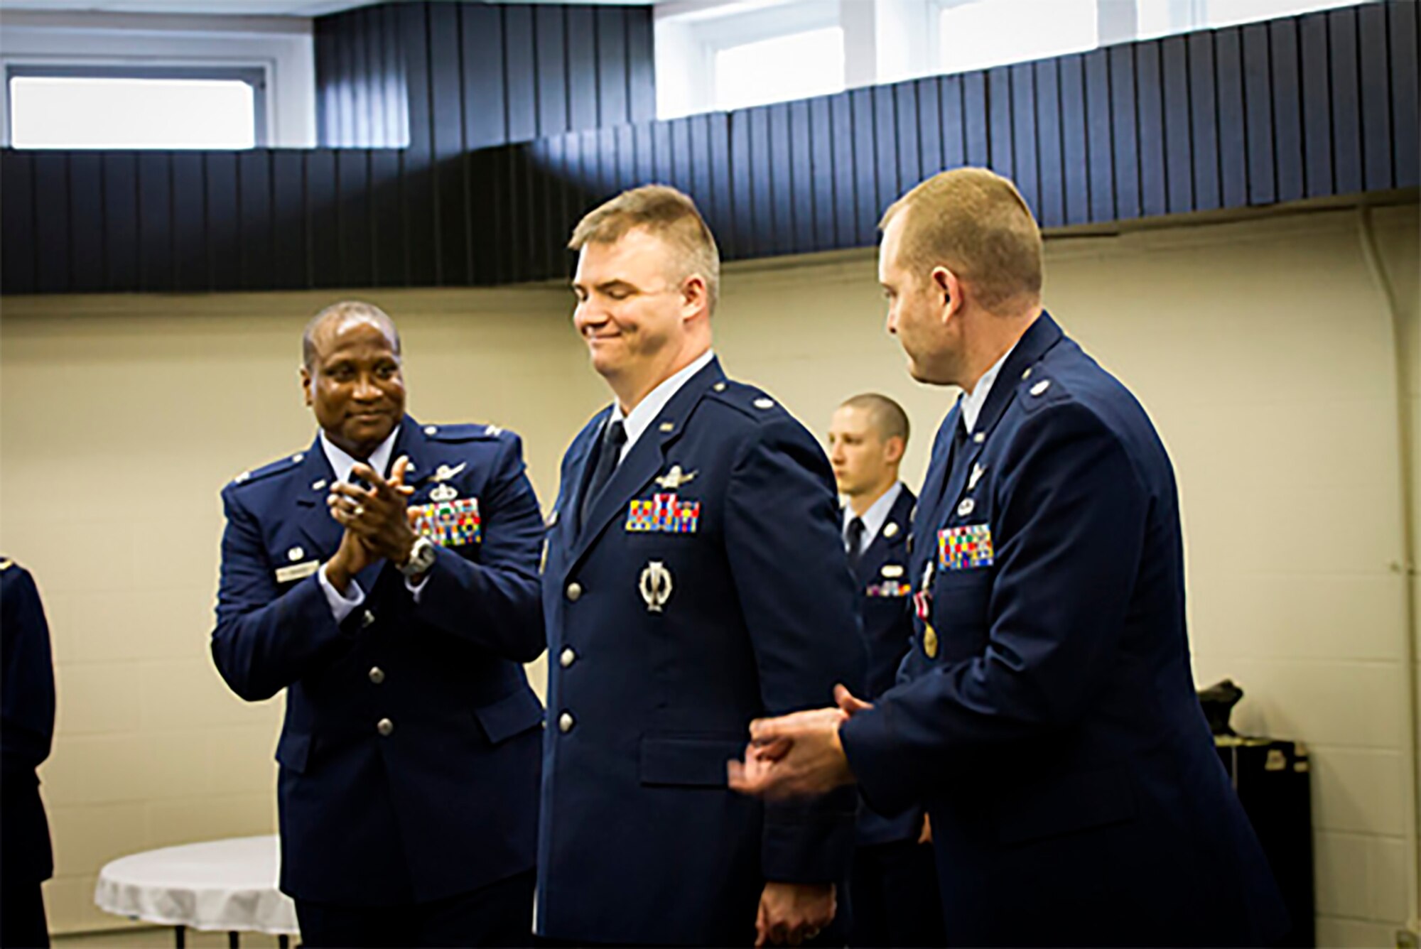
{"type": "Polygon", "coordinates": [[[313,946],[531,940],[543,521],[522,442],[405,415],[367,303],[303,338],[311,448],[222,492],[212,655],[286,690],[281,891],[313,946]]]}

